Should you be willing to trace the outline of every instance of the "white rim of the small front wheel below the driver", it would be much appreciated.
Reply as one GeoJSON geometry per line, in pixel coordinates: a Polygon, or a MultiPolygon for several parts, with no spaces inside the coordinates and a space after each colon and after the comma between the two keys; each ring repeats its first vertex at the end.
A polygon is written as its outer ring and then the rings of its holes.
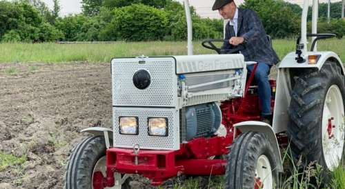
{"type": "MultiPolygon", "coordinates": [[[[255,179],[259,179],[264,185],[262,189],[273,189],[273,175],[270,167],[270,161],[266,155],[261,155],[257,159],[257,167],[255,170],[255,179]]],[[[256,181],[255,181],[256,182],[256,181]]]]}

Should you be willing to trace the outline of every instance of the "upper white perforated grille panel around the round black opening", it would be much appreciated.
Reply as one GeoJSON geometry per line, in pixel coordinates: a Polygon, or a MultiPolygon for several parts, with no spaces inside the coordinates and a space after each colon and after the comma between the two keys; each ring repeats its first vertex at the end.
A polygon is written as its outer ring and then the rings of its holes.
{"type": "Polygon", "coordinates": [[[175,107],[177,105],[175,59],[153,57],[141,59],[112,59],[112,105],[175,107]],[[144,62],[144,63],[143,63],[144,62]],[[138,70],[150,74],[150,86],[135,87],[133,75],[138,70]]]}

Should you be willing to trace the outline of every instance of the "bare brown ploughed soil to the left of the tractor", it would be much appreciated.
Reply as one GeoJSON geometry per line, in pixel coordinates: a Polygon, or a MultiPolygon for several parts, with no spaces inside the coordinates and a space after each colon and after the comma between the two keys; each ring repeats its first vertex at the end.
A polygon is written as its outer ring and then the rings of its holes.
{"type": "Polygon", "coordinates": [[[63,188],[79,130],[110,123],[110,63],[0,64],[0,152],[27,155],[0,188],[63,188]]]}

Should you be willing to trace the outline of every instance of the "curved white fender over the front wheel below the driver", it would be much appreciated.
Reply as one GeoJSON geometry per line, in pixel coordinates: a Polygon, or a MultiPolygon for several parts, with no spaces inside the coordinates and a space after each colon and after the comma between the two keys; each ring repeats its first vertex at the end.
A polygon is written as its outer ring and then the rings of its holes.
{"type": "MultiPolygon", "coordinates": [[[[266,134],[266,136],[270,140],[271,146],[273,147],[273,152],[275,153],[275,160],[277,161],[277,170],[279,172],[283,172],[282,157],[280,156],[277,137],[275,137],[275,132],[273,131],[273,128],[270,125],[261,121],[244,121],[241,123],[236,123],[234,127],[241,130],[241,132],[254,131],[266,134]]],[[[236,132],[234,133],[234,135],[236,135],[236,132]]]]}

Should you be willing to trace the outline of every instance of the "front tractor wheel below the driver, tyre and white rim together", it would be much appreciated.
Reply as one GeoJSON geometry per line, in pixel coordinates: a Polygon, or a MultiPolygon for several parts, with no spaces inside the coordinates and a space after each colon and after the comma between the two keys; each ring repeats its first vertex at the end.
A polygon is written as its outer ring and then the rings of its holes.
{"type": "Polygon", "coordinates": [[[273,189],[279,187],[277,162],[265,134],[245,132],[230,148],[226,167],[227,189],[273,189]]]}

